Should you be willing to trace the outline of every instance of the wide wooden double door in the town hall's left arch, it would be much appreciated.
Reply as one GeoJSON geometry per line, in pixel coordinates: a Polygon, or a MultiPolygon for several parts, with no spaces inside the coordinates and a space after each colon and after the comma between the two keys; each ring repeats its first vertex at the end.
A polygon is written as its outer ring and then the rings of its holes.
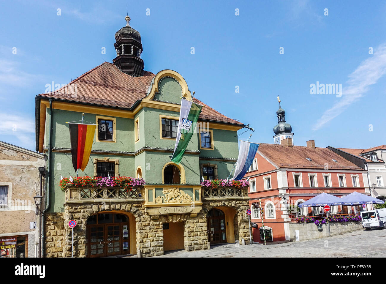
{"type": "Polygon", "coordinates": [[[119,213],[91,215],[86,223],[87,256],[108,257],[130,253],[129,217],[119,213]]]}

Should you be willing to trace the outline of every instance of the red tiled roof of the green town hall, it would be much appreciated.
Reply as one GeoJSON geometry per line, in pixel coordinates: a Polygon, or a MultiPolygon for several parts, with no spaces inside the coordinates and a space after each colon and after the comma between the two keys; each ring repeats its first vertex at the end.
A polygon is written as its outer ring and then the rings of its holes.
{"type": "MultiPolygon", "coordinates": [[[[137,100],[146,97],[154,77],[149,71],[144,71],[141,77],[132,77],[120,71],[114,64],[104,62],[59,90],[40,96],[129,109],[137,100]]],[[[193,98],[193,101],[203,105],[201,119],[243,125],[196,98],[193,98]]]]}

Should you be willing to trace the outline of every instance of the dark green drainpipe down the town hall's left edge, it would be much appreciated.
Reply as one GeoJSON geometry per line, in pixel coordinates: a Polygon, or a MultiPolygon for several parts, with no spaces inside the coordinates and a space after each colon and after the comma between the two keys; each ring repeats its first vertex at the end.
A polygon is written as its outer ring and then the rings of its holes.
{"type": "Polygon", "coordinates": [[[46,216],[46,211],[50,207],[50,202],[49,202],[49,193],[51,191],[51,154],[52,154],[52,125],[54,121],[54,116],[52,113],[52,99],[49,99],[49,109],[50,109],[50,122],[49,122],[49,138],[48,138],[48,162],[47,162],[47,172],[48,174],[46,175],[46,194],[45,194],[45,199],[46,199],[46,208],[42,211],[42,257],[46,257],[46,250],[45,250],[45,242],[44,242],[44,234],[45,234],[45,216],[46,216]]]}

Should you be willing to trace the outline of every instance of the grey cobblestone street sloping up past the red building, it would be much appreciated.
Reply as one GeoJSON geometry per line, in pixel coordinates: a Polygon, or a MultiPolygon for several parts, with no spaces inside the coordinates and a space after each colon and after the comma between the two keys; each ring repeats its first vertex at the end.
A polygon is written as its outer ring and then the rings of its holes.
{"type": "Polygon", "coordinates": [[[224,244],[210,250],[167,252],[159,257],[385,257],[386,230],[358,230],[344,235],[272,245],[224,244]]]}

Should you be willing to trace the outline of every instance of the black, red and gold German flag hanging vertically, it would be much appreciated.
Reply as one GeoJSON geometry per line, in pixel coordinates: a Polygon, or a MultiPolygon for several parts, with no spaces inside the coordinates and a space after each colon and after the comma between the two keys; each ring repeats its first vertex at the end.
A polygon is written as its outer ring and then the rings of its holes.
{"type": "Polygon", "coordinates": [[[69,123],[74,170],[85,170],[93,145],[95,124],[69,123]]]}

